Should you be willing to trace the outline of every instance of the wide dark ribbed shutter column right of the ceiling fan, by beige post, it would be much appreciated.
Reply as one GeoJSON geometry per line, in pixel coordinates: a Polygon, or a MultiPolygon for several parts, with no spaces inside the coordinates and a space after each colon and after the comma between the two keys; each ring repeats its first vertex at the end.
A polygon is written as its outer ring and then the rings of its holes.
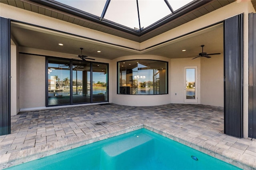
{"type": "Polygon", "coordinates": [[[243,14],[224,21],[224,133],[243,137],[243,14]]]}

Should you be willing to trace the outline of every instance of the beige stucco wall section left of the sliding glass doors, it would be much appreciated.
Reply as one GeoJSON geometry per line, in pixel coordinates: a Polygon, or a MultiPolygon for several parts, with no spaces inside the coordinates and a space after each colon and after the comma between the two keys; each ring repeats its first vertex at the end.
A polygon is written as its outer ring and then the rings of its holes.
{"type": "Polygon", "coordinates": [[[45,106],[45,57],[20,54],[20,108],[45,106]]]}

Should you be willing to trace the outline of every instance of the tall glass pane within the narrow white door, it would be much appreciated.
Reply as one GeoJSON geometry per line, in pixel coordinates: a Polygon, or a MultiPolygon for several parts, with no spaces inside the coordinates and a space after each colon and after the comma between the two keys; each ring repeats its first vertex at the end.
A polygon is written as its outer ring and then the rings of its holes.
{"type": "Polygon", "coordinates": [[[195,69],[186,69],[186,99],[195,99],[195,69]]]}

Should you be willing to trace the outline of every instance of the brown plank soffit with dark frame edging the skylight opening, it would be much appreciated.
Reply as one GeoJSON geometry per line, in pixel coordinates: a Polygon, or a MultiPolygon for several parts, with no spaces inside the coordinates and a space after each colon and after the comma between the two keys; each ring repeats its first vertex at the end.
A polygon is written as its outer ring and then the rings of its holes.
{"type": "Polygon", "coordinates": [[[218,8],[226,6],[234,0],[200,0],[195,1],[194,6],[187,7],[175,15],[166,16],[162,20],[145,28],[141,32],[136,32],[125,26],[96,18],[95,16],[88,16],[81,11],[68,10],[60,6],[49,4],[50,1],[30,1],[30,0],[1,0],[2,3],[9,4],[18,8],[36,12],[45,16],[50,16],[59,20],[70,22],[72,24],[80,25],[114,36],[126,38],[136,42],[143,42],[154,36],[162,34],[168,30],[176,28],[186,22],[199,18],[209,12],[218,8]],[[47,3],[46,3],[47,2],[47,3]],[[48,3],[49,2],[49,3],[48,3]]]}

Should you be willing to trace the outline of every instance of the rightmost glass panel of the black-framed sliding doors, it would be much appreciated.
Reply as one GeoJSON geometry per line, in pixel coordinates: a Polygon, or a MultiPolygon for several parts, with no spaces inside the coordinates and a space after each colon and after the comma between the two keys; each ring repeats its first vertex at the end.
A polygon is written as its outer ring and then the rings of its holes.
{"type": "Polygon", "coordinates": [[[108,101],[108,65],[92,64],[92,101],[108,101]]]}

